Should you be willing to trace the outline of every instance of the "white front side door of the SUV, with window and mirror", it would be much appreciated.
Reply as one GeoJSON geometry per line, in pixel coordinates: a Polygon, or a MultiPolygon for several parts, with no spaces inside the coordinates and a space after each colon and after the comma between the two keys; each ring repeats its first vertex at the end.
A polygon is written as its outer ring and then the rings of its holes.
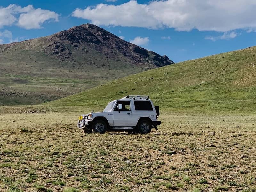
{"type": "Polygon", "coordinates": [[[131,127],[132,126],[132,111],[130,101],[117,101],[116,107],[113,110],[114,126],[131,127]],[[118,106],[122,105],[122,108],[118,106]]]}

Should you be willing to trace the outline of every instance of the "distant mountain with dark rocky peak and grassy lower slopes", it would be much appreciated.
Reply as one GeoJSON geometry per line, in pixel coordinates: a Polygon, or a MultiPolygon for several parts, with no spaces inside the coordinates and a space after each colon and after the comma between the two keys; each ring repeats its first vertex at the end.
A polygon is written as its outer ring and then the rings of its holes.
{"type": "Polygon", "coordinates": [[[0,45],[0,104],[39,104],[173,64],[92,24],[0,45]]]}

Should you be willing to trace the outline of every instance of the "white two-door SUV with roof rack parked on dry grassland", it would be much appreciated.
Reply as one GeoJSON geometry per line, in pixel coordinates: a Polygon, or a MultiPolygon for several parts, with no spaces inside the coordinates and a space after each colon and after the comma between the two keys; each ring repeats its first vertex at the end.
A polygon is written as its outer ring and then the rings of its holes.
{"type": "Polygon", "coordinates": [[[128,95],[108,103],[103,112],[90,113],[79,117],[77,126],[84,133],[104,133],[106,131],[128,131],[149,133],[157,130],[159,107],[153,105],[149,96],[128,95]]]}

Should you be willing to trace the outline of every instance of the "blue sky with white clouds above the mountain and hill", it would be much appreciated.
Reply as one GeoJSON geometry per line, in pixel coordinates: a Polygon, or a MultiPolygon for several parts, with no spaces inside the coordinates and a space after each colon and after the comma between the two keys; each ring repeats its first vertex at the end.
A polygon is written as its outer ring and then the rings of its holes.
{"type": "Polygon", "coordinates": [[[256,45],[255,0],[7,0],[0,43],[97,24],[180,62],[256,45]]]}

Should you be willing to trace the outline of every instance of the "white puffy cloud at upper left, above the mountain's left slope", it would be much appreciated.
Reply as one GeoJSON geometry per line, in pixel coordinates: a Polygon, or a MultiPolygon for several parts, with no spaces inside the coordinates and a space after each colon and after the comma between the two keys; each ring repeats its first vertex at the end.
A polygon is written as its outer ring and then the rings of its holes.
{"type": "Polygon", "coordinates": [[[53,11],[35,9],[33,5],[21,7],[10,4],[8,7],[0,7],[0,28],[17,24],[25,29],[41,28],[48,20],[58,21],[59,15],[53,11]]]}

